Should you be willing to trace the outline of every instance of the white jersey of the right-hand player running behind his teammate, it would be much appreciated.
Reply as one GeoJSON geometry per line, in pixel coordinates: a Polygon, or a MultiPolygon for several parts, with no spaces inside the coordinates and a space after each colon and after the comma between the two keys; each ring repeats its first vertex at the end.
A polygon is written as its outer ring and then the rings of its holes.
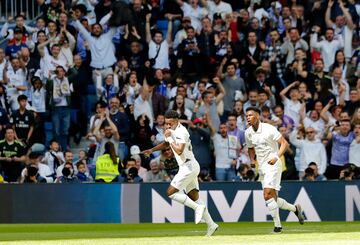
{"type": "Polygon", "coordinates": [[[280,137],[280,132],[268,123],[260,122],[256,132],[253,127],[246,129],[246,145],[248,148],[255,148],[256,160],[260,168],[277,154],[279,150],[277,141],[280,137]]]}

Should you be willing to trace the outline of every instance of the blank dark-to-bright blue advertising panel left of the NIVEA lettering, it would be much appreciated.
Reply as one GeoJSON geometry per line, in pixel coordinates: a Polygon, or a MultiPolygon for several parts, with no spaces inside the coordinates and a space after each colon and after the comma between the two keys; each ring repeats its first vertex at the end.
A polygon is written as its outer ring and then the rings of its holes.
{"type": "Polygon", "coordinates": [[[0,185],[0,223],[121,223],[120,187],[0,185]]]}

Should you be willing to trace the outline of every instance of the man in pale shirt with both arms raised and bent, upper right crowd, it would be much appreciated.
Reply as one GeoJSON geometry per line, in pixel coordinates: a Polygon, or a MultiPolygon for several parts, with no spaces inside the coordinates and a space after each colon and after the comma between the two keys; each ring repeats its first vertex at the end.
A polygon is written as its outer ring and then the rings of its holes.
{"type": "Polygon", "coordinates": [[[320,51],[324,60],[324,71],[328,72],[329,67],[334,63],[336,51],[344,47],[343,39],[341,35],[335,37],[333,28],[327,28],[325,40],[318,41],[320,27],[314,26],[313,28],[315,33],[311,35],[310,46],[320,51]]]}

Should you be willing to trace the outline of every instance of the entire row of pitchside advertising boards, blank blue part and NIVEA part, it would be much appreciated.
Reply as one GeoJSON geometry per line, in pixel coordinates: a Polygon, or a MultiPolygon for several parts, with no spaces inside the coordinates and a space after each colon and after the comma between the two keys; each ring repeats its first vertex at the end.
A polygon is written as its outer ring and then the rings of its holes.
{"type": "MultiPolygon", "coordinates": [[[[0,185],[0,223],[193,222],[194,211],[166,196],[168,183],[0,185]]],[[[215,221],[270,221],[260,183],[204,183],[215,221]]],[[[308,221],[360,220],[360,181],[285,182],[279,195],[308,221]]],[[[281,219],[297,221],[281,211],[281,219]]]]}

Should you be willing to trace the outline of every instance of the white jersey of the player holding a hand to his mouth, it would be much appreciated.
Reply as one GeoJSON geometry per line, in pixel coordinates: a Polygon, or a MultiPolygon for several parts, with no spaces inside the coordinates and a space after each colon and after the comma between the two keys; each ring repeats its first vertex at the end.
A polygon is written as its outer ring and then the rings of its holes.
{"type": "Polygon", "coordinates": [[[196,162],[194,157],[194,153],[192,152],[192,145],[190,140],[190,134],[187,129],[179,123],[176,126],[175,130],[171,131],[171,137],[175,141],[176,144],[185,144],[184,151],[181,155],[178,155],[174,150],[174,156],[179,166],[183,165],[185,162],[196,162]]]}

